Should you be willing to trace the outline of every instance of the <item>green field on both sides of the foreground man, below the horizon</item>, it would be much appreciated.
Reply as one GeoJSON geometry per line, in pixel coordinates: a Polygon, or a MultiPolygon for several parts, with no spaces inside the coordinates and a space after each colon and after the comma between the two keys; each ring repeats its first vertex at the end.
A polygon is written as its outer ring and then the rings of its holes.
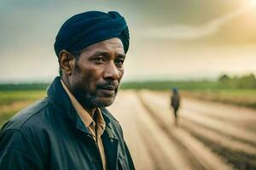
{"type": "MultiPolygon", "coordinates": [[[[17,111],[46,96],[47,84],[0,85],[0,127],[17,111]],[[9,88],[7,88],[9,87],[9,88]]],[[[125,82],[121,89],[150,89],[170,93],[178,88],[182,97],[205,99],[256,109],[256,88],[230,87],[220,82],[125,82]]]]}

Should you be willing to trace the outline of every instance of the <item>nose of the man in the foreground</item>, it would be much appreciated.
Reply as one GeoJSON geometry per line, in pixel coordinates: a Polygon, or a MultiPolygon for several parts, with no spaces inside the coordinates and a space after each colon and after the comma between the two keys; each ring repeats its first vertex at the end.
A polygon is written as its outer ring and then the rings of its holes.
{"type": "Polygon", "coordinates": [[[108,65],[106,65],[104,71],[104,78],[111,78],[113,80],[118,80],[120,78],[121,72],[116,67],[113,61],[110,61],[108,65]]]}

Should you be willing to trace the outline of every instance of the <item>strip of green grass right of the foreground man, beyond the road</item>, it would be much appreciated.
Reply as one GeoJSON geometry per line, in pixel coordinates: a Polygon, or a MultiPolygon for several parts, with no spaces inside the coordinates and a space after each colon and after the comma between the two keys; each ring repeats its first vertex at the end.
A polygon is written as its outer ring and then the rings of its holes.
{"type": "Polygon", "coordinates": [[[122,89],[168,90],[178,88],[182,95],[256,109],[256,88],[237,88],[222,82],[126,82],[122,89]]]}

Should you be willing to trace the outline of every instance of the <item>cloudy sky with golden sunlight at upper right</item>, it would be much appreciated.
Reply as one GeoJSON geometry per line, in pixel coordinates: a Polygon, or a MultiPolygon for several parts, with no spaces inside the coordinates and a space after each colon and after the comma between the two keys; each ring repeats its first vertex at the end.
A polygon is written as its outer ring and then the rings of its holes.
{"type": "Polygon", "coordinates": [[[256,0],[1,0],[0,82],[50,82],[55,35],[88,10],[125,17],[124,81],[256,73],[256,0]]]}

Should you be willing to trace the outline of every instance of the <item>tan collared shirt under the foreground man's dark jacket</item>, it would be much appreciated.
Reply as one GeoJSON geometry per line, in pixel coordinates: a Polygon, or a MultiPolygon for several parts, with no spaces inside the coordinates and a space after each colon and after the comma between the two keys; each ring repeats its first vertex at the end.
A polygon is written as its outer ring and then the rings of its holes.
{"type": "Polygon", "coordinates": [[[92,134],[93,139],[95,140],[95,142],[98,146],[98,149],[100,151],[103,169],[106,170],[107,169],[107,160],[106,160],[104,146],[103,146],[102,138],[101,138],[102,133],[105,130],[106,123],[103,119],[102,111],[99,108],[96,108],[96,111],[94,112],[94,117],[95,117],[95,121],[94,121],[94,119],[90,116],[90,114],[84,110],[83,106],[79,104],[79,101],[77,99],[75,99],[73,94],[71,94],[71,92],[68,90],[65,83],[62,82],[62,80],[61,80],[61,84],[62,84],[63,88],[65,89],[65,91],[67,92],[67,95],[69,96],[69,98],[73,104],[73,107],[78,112],[80,118],[84,122],[85,127],[87,127],[90,130],[90,133],[92,134]]]}

